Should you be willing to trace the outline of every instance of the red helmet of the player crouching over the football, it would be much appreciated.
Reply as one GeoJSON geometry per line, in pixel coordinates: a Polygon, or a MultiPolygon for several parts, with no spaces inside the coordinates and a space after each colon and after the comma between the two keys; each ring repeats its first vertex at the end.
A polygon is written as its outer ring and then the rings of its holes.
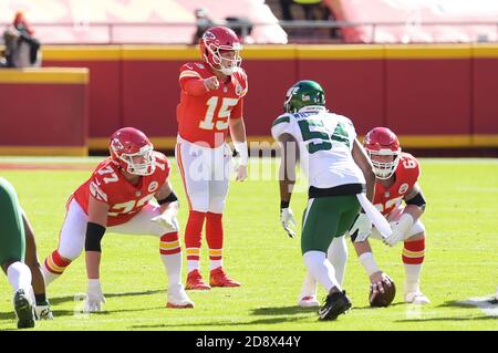
{"type": "Polygon", "coordinates": [[[378,179],[388,179],[397,168],[401,157],[401,146],[397,136],[387,127],[374,127],[363,141],[363,146],[372,160],[378,179]],[[372,156],[393,156],[391,162],[380,162],[372,156]]]}

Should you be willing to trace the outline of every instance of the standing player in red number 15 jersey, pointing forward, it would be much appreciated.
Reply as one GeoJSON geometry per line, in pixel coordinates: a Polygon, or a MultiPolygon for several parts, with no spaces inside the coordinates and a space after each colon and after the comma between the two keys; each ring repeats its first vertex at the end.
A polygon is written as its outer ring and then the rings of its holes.
{"type": "Polygon", "coordinates": [[[248,150],[242,118],[247,75],[240,68],[241,44],[226,27],[212,27],[200,39],[203,62],[180,68],[180,103],[177,106],[176,159],[184,180],[189,215],[185,230],[187,248],[186,289],[239,287],[222,264],[222,212],[228,194],[232,153],[228,133],[240,155],[236,180],[247,178],[248,150]],[[210,276],[206,283],[199,271],[201,231],[206,222],[210,276]]]}

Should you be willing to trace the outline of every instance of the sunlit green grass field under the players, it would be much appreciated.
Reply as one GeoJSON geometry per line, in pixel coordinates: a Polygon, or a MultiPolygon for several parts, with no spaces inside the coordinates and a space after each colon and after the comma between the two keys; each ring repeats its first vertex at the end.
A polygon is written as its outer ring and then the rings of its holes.
{"type": "MultiPolygon", "coordinates": [[[[96,165],[102,158],[55,159],[96,165]]],[[[0,163],[50,163],[9,159],[0,163]]],[[[344,288],[353,309],[334,322],[319,322],[315,309],[295,305],[304,264],[300,239],[290,239],[279,222],[276,160],[251,162],[252,179],[230,185],[225,212],[225,264],[241,288],[190,292],[194,310],[165,309],[166,274],[158,239],[108,233],[103,240],[101,280],[105,312],[84,315],[77,295],[86,290],[84,257],[49,288],[55,320],[37,322],[34,330],[498,330],[497,307],[486,313],[463,303],[491,297],[498,285],[498,159],[421,159],[421,185],[428,200],[423,221],[427,229],[422,289],[426,307],[403,303],[402,245],[387,248],[373,240],[377,263],[396,282],[394,304],[369,307],[367,277],[350,245],[344,288]],[[269,170],[267,178],[255,178],[269,170]],[[271,173],[270,173],[271,172],[271,173]],[[76,298],[76,300],[75,300],[76,298]]],[[[173,184],[180,197],[179,220],[185,226],[187,203],[176,164],[173,184]]],[[[0,169],[18,190],[37,232],[40,261],[58,245],[68,196],[90,176],[86,170],[0,169]]],[[[305,186],[298,186],[292,208],[305,206],[305,186]]],[[[208,273],[207,251],[203,270],[208,273]]],[[[186,261],[184,257],[184,278],[186,261]]],[[[7,278],[0,278],[0,330],[15,328],[7,278]]],[[[320,298],[325,295],[320,289],[320,298]]]]}

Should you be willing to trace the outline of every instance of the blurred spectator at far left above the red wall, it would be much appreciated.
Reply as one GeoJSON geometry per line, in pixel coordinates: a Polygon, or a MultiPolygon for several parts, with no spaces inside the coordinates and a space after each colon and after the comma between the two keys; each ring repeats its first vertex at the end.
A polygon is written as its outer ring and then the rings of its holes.
{"type": "Polygon", "coordinates": [[[7,68],[40,66],[40,42],[22,12],[17,12],[12,25],[3,32],[6,50],[2,65],[7,68]]]}

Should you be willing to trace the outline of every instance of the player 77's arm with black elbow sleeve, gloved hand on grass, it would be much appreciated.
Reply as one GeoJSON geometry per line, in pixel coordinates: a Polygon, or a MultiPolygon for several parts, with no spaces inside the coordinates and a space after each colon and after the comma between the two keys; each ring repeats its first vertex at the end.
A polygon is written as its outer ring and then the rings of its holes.
{"type": "Polygon", "coordinates": [[[105,303],[104,293],[100,281],[101,240],[107,226],[108,205],[98,201],[93,196],[89,197],[89,221],[85,237],[85,263],[89,278],[86,292],[86,312],[102,311],[105,303]]]}

